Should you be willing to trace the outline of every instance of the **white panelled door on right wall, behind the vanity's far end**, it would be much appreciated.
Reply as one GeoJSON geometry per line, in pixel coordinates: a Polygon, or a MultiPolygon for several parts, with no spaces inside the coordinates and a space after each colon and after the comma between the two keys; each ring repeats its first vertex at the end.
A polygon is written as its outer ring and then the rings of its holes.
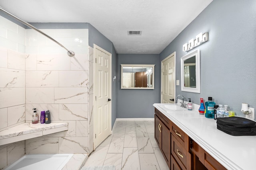
{"type": "Polygon", "coordinates": [[[161,103],[175,103],[175,52],[161,62],[161,103]]]}

